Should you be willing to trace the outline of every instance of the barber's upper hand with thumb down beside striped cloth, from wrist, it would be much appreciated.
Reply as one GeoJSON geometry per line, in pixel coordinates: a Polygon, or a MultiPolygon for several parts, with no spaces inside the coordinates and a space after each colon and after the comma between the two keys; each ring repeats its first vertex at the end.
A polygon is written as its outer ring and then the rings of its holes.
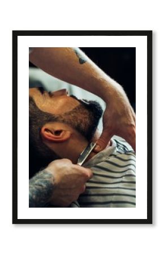
{"type": "Polygon", "coordinates": [[[126,139],[136,151],[136,117],[126,94],[113,96],[113,100],[107,103],[103,114],[103,131],[94,151],[103,150],[113,135],[126,139]]]}

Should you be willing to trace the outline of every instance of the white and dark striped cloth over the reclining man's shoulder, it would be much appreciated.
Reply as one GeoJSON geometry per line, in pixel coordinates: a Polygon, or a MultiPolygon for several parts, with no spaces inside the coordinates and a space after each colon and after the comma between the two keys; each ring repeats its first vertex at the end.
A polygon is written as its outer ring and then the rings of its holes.
{"type": "Polygon", "coordinates": [[[109,148],[83,166],[93,177],[70,207],[136,207],[135,152],[124,139],[114,136],[109,148]]]}

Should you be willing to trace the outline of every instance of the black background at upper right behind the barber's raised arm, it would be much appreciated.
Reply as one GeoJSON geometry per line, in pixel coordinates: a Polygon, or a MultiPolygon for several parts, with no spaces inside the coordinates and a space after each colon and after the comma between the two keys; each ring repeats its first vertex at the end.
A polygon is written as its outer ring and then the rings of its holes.
{"type": "MultiPolygon", "coordinates": [[[[107,75],[123,86],[135,110],[136,106],[136,48],[80,47],[107,75]]],[[[29,63],[29,67],[34,67],[29,63]]]]}

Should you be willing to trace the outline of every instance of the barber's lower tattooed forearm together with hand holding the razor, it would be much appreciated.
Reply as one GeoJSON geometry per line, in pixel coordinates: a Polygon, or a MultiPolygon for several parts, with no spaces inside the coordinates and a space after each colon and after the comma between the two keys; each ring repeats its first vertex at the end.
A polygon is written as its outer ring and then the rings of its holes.
{"type": "Polygon", "coordinates": [[[29,207],[68,207],[85,191],[92,171],[68,159],[54,160],[29,180],[29,207]]]}

